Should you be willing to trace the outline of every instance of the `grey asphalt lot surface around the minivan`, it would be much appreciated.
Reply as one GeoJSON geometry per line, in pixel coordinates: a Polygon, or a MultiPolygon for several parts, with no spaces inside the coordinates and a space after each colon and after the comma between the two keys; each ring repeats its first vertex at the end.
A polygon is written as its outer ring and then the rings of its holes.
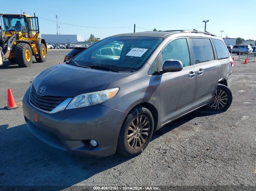
{"type": "Polygon", "coordinates": [[[27,129],[22,98],[33,76],[63,62],[70,50],[49,50],[29,68],[0,66],[0,185],[231,185],[256,186],[256,63],[235,58],[233,103],[224,113],[198,110],[153,134],[135,158],[75,156],[53,148],[27,129]],[[11,88],[16,110],[5,110],[11,88]],[[197,124],[197,125],[196,125],[197,124]]]}

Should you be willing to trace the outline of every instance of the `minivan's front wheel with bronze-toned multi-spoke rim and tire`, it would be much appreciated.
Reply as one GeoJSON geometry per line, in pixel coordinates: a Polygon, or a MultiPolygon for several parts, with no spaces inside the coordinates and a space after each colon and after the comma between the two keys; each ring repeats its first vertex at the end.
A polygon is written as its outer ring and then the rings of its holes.
{"type": "Polygon", "coordinates": [[[121,127],[117,152],[126,157],[135,157],[148,146],[154,130],[151,112],[142,106],[133,108],[121,127]]]}

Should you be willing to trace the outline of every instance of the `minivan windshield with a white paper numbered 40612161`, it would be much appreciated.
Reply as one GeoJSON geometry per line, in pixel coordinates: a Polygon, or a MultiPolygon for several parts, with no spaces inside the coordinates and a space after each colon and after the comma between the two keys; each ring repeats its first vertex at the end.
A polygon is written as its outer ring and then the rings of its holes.
{"type": "Polygon", "coordinates": [[[74,58],[82,66],[106,66],[117,71],[137,71],[162,41],[161,37],[109,37],[74,58]]]}

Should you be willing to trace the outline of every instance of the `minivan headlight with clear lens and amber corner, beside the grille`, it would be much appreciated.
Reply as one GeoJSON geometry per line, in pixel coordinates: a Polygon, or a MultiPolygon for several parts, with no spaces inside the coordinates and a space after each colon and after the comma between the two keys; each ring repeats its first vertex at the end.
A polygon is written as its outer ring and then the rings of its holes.
{"type": "Polygon", "coordinates": [[[114,97],[118,91],[119,91],[119,88],[111,88],[107,90],[95,91],[91,93],[77,95],[68,104],[68,106],[66,107],[66,110],[102,103],[110,99],[111,97],[114,97]]]}

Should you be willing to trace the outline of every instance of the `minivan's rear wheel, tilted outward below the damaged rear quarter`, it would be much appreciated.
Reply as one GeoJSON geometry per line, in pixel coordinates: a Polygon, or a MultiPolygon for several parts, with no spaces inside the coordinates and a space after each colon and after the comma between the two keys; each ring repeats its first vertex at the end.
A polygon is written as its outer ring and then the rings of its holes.
{"type": "Polygon", "coordinates": [[[206,106],[210,111],[226,111],[232,103],[232,93],[230,89],[222,84],[218,84],[214,94],[214,101],[206,106]]]}

